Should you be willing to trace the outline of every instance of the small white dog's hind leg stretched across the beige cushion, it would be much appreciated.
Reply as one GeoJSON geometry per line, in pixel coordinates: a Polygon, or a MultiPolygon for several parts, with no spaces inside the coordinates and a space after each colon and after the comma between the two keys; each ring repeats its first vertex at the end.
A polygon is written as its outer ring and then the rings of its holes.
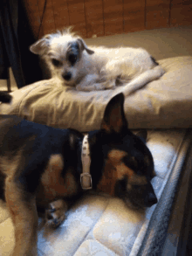
{"type": "Polygon", "coordinates": [[[141,73],[138,77],[135,77],[133,80],[131,80],[131,82],[127,83],[127,85],[123,88],[123,93],[126,96],[134,93],[147,83],[161,78],[164,73],[165,71],[161,66],[155,66],[153,69],[141,73]]]}

